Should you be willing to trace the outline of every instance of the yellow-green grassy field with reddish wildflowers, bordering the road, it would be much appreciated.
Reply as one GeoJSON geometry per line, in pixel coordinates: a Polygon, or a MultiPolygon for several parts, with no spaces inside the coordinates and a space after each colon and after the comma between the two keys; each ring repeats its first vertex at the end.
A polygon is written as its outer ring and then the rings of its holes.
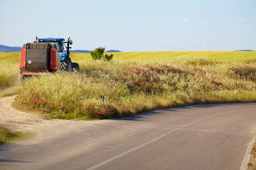
{"type": "MultiPolygon", "coordinates": [[[[0,87],[14,86],[19,53],[0,53],[0,59],[0,87]]],[[[52,118],[94,120],[256,101],[256,52],[125,52],[114,53],[109,62],[71,53],[71,59],[80,72],[24,80],[15,107],[52,118]]]]}

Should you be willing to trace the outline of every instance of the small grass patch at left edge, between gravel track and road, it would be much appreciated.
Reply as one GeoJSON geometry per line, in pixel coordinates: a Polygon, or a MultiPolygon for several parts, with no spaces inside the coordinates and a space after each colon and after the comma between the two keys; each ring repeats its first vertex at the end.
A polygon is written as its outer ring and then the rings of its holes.
{"type": "Polygon", "coordinates": [[[18,140],[32,137],[32,133],[22,133],[20,131],[10,131],[3,126],[0,126],[0,145],[13,143],[18,140]]]}

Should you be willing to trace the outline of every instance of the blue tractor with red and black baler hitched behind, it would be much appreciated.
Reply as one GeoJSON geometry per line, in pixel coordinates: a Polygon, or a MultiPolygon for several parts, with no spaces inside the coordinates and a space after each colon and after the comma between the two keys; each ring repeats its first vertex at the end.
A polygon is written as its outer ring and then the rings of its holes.
{"type": "Polygon", "coordinates": [[[18,82],[31,75],[53,74],[57,70],[79,71],[79,64],[71,61],[69,57],[69,45],[72,40],[49,37],[38,39],[34,43],[26,43],[20,50],[20,74],[18,82]],[[67,44],[67,46],[65,45],[67,44]],[[65,46],[65,49],[64,49],[65,46]]]}

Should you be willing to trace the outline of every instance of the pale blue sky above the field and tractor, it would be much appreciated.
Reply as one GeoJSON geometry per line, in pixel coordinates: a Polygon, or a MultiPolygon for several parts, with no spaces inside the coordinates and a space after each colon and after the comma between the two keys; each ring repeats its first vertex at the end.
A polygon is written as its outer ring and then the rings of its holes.
{"type": "Polygon", "coordinates": [[[0,44],[71,37],[73,50],[256,50],[255,0],[0,0],[0,44]]]}

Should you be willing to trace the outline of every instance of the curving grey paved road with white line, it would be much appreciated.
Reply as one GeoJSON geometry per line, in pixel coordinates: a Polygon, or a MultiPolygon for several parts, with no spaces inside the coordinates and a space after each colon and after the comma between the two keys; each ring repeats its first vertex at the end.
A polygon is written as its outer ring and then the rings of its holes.
{"type": "Polygon", "coordinates": [[[256,103],[71,121],[0,146],[0,169],[240,169],[254,122],[256,103]]]}

